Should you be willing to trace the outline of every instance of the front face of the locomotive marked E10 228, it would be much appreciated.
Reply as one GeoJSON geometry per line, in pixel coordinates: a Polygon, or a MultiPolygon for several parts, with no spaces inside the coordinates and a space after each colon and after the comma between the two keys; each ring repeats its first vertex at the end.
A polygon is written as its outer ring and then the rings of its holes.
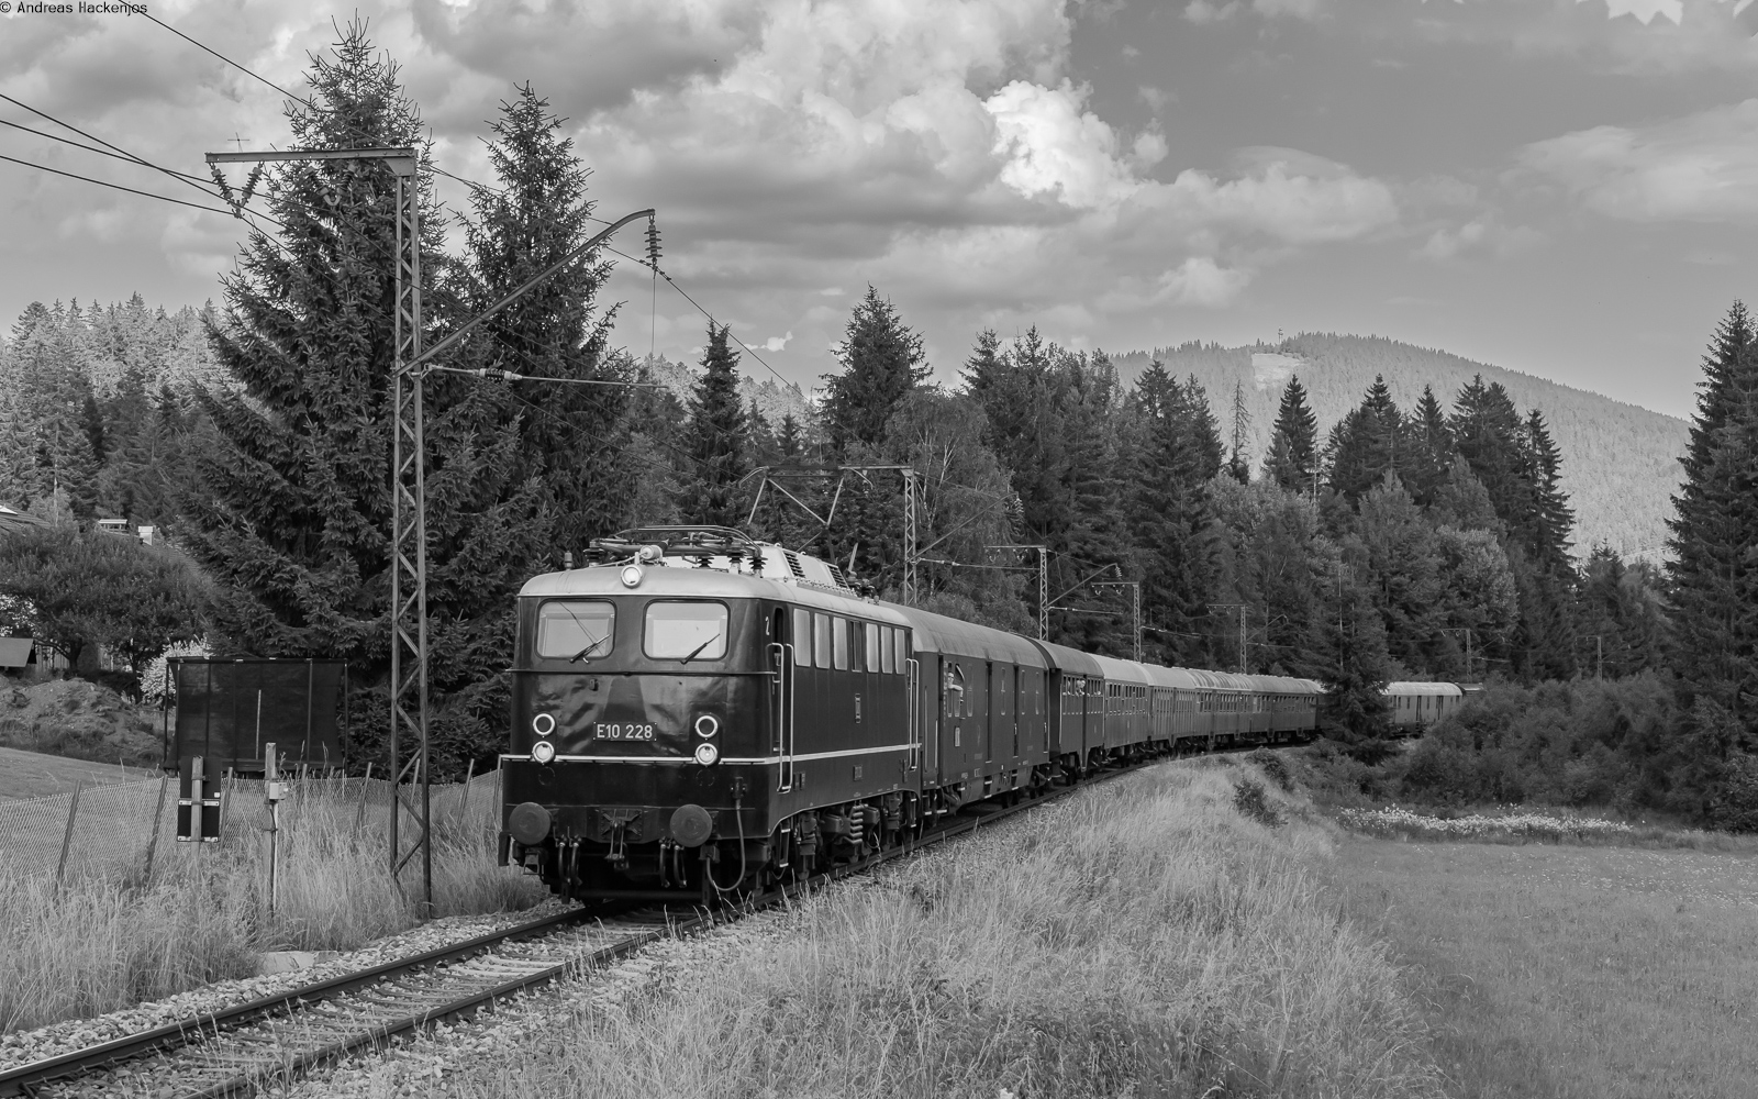
{"type": "Polygon", "coordinates": [[[612,564],[519,594],[501,860],[563,895],[703,899],[766,862],[765,584],[612,564]]]}

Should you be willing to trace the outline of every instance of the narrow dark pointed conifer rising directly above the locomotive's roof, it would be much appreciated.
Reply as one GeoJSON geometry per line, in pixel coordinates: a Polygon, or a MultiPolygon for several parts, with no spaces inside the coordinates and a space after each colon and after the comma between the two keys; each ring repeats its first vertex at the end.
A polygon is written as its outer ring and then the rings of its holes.
{"type": "Polygon", "coordinates": [[[751,471],[751,426],[738,399],[738,352],[728,346],[728,332],[726,325],[708,322],[703,373],[684,426],[689,468],[677,506],[689,522],[738,528],[745,522],[740,482],[751,471]]]}

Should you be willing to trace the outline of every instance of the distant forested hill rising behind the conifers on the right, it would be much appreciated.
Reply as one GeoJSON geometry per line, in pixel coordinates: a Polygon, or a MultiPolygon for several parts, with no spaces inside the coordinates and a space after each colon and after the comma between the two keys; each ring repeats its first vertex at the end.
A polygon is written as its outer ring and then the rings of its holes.
{"type": "Polygon", "coordinates": [[[1320,438],[1345,411],[1361,404],[1375,375],[1385,375],[1392,397],[1405,411],[1435,387],[1442,404],[1452,406],[1459,387],[1473,375],[1500,382],[1521,410],[1540,408],[1563,452],[1563,489],[1575,508],[1575,552],[1586,554],[1607,542],[1624,556],[1649,554],[1667,540],[1672,494],[1679,489],[1679,455],[1684,454],[1686,422],[1624,404],[1595,392],[1558,385],[1531,375],[1459,355],[1420,348],[1380,336],[1303,332],[1280,345],[1224,348],[1187,343],[1113,355],[1125,383],[1159,359],[1176,375],[1195,375],[1208,390],[1222,434],[1231,429],[1234,385],[1245,385],[1252,413],[1252,462],[1262,462],[1276,403],[1290,373],[1301,376],[1320,438]]]}

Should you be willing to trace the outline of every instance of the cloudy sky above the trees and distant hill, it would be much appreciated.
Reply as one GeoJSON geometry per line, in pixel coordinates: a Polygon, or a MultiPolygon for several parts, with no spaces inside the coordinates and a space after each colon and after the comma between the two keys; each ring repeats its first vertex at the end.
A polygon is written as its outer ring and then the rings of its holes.
{"type": "MultiPolygon", "coordinates": [[[[49,7],[0,4],[18,104],[195,174],[288,148],[265,83],[141,16],[49,7]]],[[[1684,417],[1758,243],[1754,0],[146,7],[295,93],[359,12],[466,179],[492,179],[483,135],[529,81],[598,215],[656,207],[666,271],[744,369],[803,387],[872,285],[946,383],[981,329],[1111,352],[1329,331],[1684,417]]],[[[0,156],[211,202],[12,127],[0,156]]],[[[0,160],[0,324],[39,299],[218,301],[241,229],[0,160]]],[[[608,295],[631,352],[700,355],[672,288],[624,264],[608,295]]]]}

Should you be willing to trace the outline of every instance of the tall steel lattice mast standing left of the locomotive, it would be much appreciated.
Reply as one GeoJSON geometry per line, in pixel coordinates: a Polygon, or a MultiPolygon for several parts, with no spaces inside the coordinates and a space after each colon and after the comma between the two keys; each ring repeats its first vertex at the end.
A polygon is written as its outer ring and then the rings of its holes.
{"type": "MultiPolygon", "coordinates": [[[[427,786],[427,498],[422,438],[422,373],[404,364],[422,353],[422,227],[415,162],[392,162],[397,174],[397,308],[392,357],[390,443],[390,874],[417,855],[422,862],[420,913],[432,914],[432,844],[427,786]],[[413,740],[403,761],[404,737],[413,740]],[[403,782],[418,786],[404,800],[403,782]],[[413,802],[413,804],[410,804],[413,802]],[[413,818],[413,841],[403,848],[403,807],[413,818]]],[[[399,881],[401,884],[401,881],[399,881]]]]}

